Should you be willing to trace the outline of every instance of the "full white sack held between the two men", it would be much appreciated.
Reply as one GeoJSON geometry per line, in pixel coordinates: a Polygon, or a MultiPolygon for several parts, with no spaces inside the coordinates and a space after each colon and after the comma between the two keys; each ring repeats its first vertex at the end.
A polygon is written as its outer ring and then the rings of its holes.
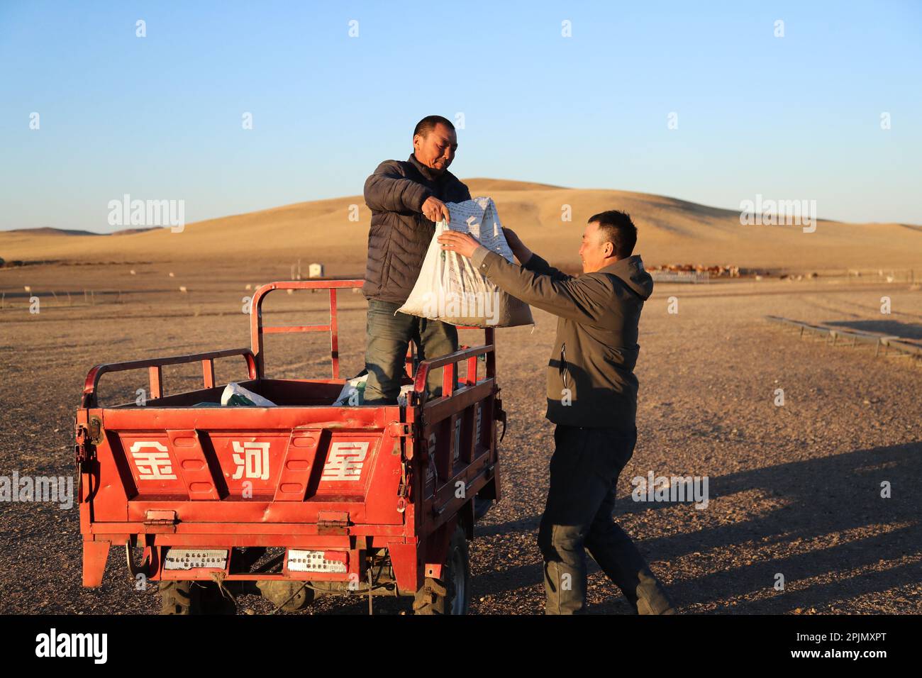
{"type": "Polygon", "coordinates": [[[502,234],[496,205],[490,197],[447,203],[451,226],[439,221],[422,262],[420,277],[400,313],[420,315],[451,325],[515,327],[534,325],[527,303],[510,296],[480,274],[467,256],[444,251],[439,236],[445,231],[470,233],[480,244],[514,263],[502,234]]]}

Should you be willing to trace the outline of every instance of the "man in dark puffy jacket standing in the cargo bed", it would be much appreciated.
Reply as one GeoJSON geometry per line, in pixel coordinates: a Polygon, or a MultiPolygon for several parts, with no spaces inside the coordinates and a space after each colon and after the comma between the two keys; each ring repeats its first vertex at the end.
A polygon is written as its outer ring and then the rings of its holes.
{"type": "MultiPolygon", "coordinates": [[[[449,220],[445,203],[470,199],[467,186],[448,172],[457,147],[455,125],[441,115],[429,115],[413,130],[408,160],[382,162],[365,182],[365,203],[372,210],[361,288],[368,300],[366,405],[396,404],[410,340],[420,360],[457,351],[454,325],[395,315],[420,276],[435,222],[449,220]]],[[[431,396],[441,393],[440,372],[433,370],[429,377],[431,396]]]]}

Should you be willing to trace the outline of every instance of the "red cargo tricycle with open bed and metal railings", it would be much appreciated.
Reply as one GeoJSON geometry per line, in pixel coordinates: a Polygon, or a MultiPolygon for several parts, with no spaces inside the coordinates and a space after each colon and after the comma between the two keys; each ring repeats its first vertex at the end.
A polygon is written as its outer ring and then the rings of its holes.
{"type": "Polygon", "coordinates": [[[370,611],[373,596],[403,595],[416,613],[467,612],[475,497],[500,498],[494,330],[440,358],[408,351],[406,405],[336,406],[337,291],[361,285],[271,283],[250,306],[251,349],[89,371],[76,421],[84,586],[100,586],[115,545],[132,577],[160,582],[163,613],[232,613],[244,593],[282,611],[340,594],[368,596],[370,611]],[[278,290],[328,290],[329,324],[264,327],[278,290]],[[267,377],[264,335],[311,331],[330,334],[332,377],[267,377]],[[239,384],[275,407],[196,407],[219,400],[214,361],[235,356],[239,384]],[[162,368],[181,363],[201,363],[203,387],[166,395],[162,368]],[[100,377],[124,370],[148,370],[149,399],[100,407],[100,377]]]}

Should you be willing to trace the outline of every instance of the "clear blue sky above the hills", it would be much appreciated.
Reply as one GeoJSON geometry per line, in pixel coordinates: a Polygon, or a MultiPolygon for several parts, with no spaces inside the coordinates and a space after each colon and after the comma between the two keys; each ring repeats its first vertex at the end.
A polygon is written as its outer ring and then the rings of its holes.
{"type": "Polygon", "coordinates": [[[922,223],[920,38],[919,2],[2,0],[0,229],[357,195],[459,112],[461,177],[922,223]]]}

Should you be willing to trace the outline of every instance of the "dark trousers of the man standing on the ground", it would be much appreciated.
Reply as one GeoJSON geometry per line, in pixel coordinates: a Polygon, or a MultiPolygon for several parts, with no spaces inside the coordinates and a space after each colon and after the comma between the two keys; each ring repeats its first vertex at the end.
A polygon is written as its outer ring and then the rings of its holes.
{"type": "Polygon", "coordinates": [[[618,476],[637,432],[558,425],[538,529],[548,614],[585,613],[585,551],[640,614],[675,613],[644,556],[613,520],[618,476]]]}

